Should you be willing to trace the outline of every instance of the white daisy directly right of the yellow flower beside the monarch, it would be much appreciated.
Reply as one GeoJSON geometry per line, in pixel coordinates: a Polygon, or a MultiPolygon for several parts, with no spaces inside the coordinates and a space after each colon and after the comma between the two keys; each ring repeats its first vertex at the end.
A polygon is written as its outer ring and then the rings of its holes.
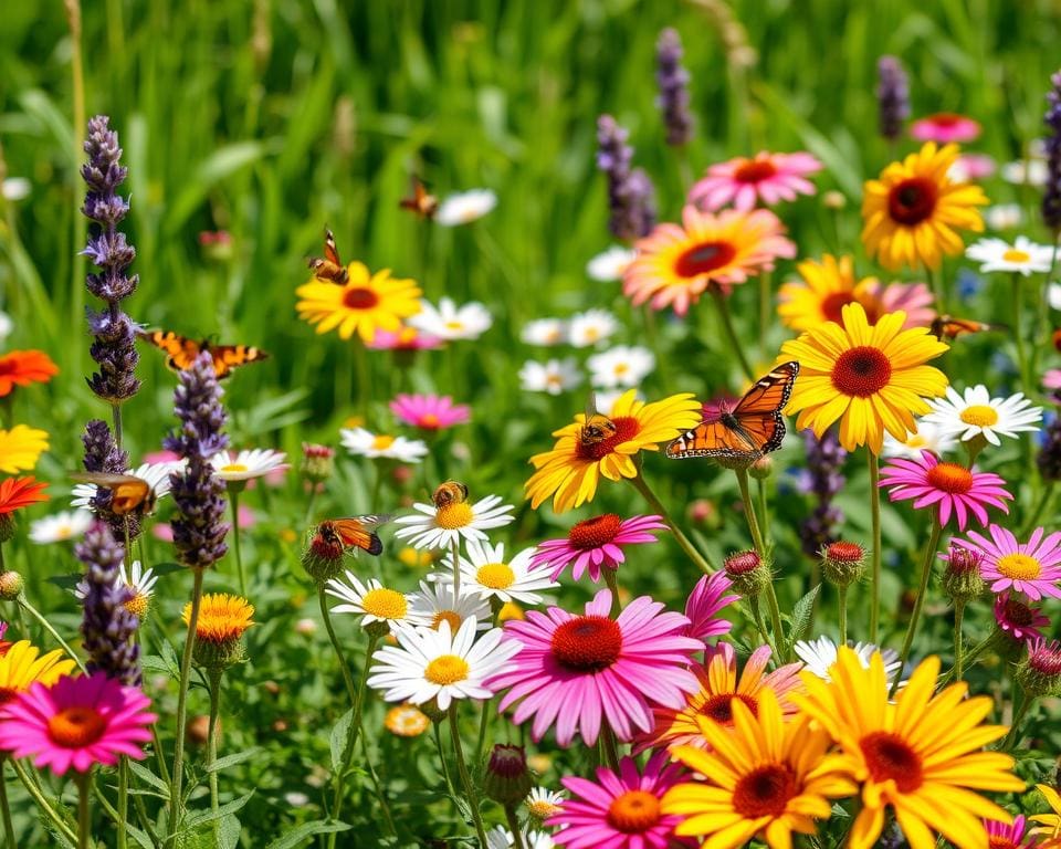
{"type": "Polygon", "coordinates": [[[1039,430],[1042,420],[1042,408],[1032,407],[1023,392],[1009,398],[991,398],[983,384],[967,387],[963,395],[948,386],[945,398],[936,398],[928,403],[932,411],[923,421],[935,424],[942,433],[963,442],[983,434],[992,446],[999,446],[999,433],[1016,439],[1022,431],[1039,430]]]}

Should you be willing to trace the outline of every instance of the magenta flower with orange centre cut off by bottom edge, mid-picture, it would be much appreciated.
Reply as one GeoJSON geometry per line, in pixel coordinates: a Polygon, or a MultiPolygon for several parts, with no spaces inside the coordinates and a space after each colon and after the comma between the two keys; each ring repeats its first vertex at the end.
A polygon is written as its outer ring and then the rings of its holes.
{"type": "Polygon", "coordinates": [[[639,773],[637,762],[624,757],[618,774],[598,767],[596,782],[578,776],[564,778],[561,784],[571,798],[545,821],[547,826],[561,826],[553,835],[553,842],[571,849],[665,849],[679,843],[673,838],[674,826],[684,817],[664,816],[660,810],[663,794],[682,774],[682,767],[669,761],[665,752],[659,752],[639,773]]]}

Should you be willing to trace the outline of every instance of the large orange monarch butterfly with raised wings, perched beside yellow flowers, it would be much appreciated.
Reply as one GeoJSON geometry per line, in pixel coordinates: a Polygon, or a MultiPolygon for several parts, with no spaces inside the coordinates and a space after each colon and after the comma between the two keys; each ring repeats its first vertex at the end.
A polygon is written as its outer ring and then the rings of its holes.
{"type": "Polygon", "coordinates": [[[724,402],[693,430],[668,444],[664,453],[673,460],[713,457],[753,462],[776,451],[785,439],[781,410],[792,394],[799,363],[784,363],[755,381],[736,403],[724,402]]]}

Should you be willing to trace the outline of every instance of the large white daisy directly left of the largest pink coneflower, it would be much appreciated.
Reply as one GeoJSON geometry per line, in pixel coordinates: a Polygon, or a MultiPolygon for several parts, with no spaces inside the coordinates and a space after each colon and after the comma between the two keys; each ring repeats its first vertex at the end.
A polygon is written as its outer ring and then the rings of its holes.
{"type": "Polygon", "coordinates": [[[501,638],[501,628],[475,636],[475,620],[466,619],[454,633],[443,621],[431,628],[395,629],[398,646],[385,646],[372,654],[376,661],[368,685],[382,690],[388,702],[423,704],[432,699],[440,711],[454,699],[492,699],[483,681],[510,668],[522,648],[518,640],[501,638]]]}

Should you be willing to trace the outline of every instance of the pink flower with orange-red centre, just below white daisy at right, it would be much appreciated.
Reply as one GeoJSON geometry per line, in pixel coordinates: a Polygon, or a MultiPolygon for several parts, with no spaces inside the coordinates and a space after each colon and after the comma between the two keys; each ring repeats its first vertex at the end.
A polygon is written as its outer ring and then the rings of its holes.
{"type": "Polygon", "coordinates": [[[1002,485],[1006,482],[991,472],[974,472],[959,463],[941,462],[931,451],[920,458],[894,458],[881,470],[881,486],[889,488],[892,501],[914,499],[914,510],[936,505],[939,524],[946,525],[952,513],[958,530],[965,531],[969,513],[981,525],[987,524],[984,505],[1009,513],[1006,499],[1012,500],[1002,485]]]}

